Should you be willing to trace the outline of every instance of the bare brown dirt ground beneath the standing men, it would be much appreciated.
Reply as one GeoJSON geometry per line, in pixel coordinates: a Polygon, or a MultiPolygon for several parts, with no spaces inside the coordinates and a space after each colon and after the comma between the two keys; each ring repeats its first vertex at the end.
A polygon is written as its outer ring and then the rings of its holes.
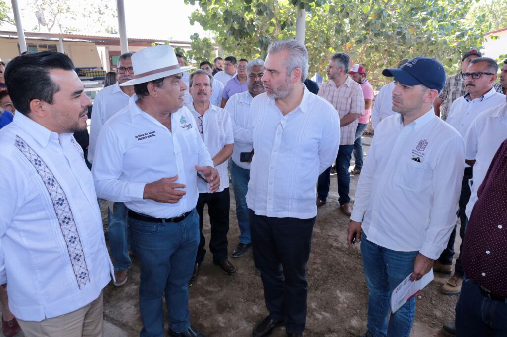
{"type": "MultiPolygon", "coordinates": [[[[371,138],[365,137],[370,144],[371,138]]],[[[368,151],[365,144],[365,151],[368,151]]],[[[358,176],[351,176],[350,196],[353,197],[358,176]]],[[[336,176],[328,203],[319,207],[313,231],[312,252],[308,263],[308,314],[305,336],[358,336],[366,331],[368,289],[366,287],[359,246],[348,248],[346,228],[348,218],[338,208],[336,176]]],[[[102,202],[106,226],[106,205],[102,202]]],[[[209,221],[204,231],[209,239],[209,221]]],[[[231,189],[229,255],[238,243],[239,230],[231,189]]],[[[456,239],[459,249],[459,238],[456,239]]],[[[190,286],[191,323],[212,337],[250,336],[255,324],[267,314],[261,277],[254,267],[251,250],[240,259],[230,259],[238,272],[225,275],[212,264],[208,251],[200,269],[199,278],[190,286]]],[[[454,318],[457,296],[439,291],[446,277],[436,278],[418,297],[416,316],[411,336],[440,336],[443,323],[454,318]]],[[[112,282],[105,288],[104,318],[127,331],[138,335],[142,325],[138,310],[139,265],[133,259],[129,280],[122,287],[112,282]]],[[[283,328],[275,337],[284,336],[283,328]]]]}

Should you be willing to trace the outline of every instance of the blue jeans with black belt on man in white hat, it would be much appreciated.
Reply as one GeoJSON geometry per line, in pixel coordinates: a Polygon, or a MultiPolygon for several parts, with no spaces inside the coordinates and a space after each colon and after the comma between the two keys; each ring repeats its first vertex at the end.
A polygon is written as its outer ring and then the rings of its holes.
{"type": "Polygon", "coordinates": [[[141,337],[163,337],[162,296],[174,332],[190,327],[189,286],[199,244],[199,216],[195,208],[183,221],[156,224],[129,218],[140,264],[139,311],[141,337]]]}

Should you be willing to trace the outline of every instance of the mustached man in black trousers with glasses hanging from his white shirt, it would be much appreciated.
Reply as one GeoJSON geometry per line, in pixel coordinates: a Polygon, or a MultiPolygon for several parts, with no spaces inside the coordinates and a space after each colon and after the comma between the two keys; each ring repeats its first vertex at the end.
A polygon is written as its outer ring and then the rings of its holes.
{"type": "Polygon", "coordinates": [[[206,249],[204,248],[206,239],[202,234],[205,204],[208,204],[209,224],[211,225],[209,250],[213,254],[213,263],[218,265],[227,275],[236,273],[236,268],[227,259],[230,210],[227,159],[232,154],[234,135],[229,113],[209,101],[213,82],[213,76],[205,70],[196,70],[189,77],[189,92],[192,95],[192,103],[187,105],[187,108],[194,116],[199,135],[208,148],[213,166],[220,175],[220,187],[214,193],[210,193],[209,184],[204,179],[197,180],[199,198],[197,199],[196,209],[199,215],[201,237],[191,280],[197,279],[199,267],[206,255],[206,249]]]}

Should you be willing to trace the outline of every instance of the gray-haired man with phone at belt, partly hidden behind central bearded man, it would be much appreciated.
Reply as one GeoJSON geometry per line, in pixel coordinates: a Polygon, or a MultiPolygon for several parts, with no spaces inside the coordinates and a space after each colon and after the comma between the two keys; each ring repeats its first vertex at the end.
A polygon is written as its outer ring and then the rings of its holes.
{"type": "Polygon", "coordinates": [[[232,251],[232,257],[237,259],[246,254],[251,246],[250,222],[246,207],[246,190],[250,180],[250,161],[252,155],[252,139],[247,130],[250,104],[253,98],[264,94],[264,61],[252,60],[246,65],[247,91],[233,95],[227,101],[225,109],[231,115],[232,130],[234,132],[234,150],[231,157],[231,179],[236,200],[236,218],[239,227],[239,244],[232,251]]]}

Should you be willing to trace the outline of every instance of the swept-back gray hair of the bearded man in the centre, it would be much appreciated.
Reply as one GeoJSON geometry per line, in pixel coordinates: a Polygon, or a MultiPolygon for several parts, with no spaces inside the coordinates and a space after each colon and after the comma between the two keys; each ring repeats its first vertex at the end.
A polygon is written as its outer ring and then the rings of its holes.
{"type": "Polygon", "coordinates": [[[310,67],[308,64],[308,50],[298,40],[279,40],[269,45],[268,54],[277,54],[285,50],[288,52],[287,63],[285,65],[287,76],[294,69],[300,68],[301,81],[303,82],[308,77],[308,68],[310,67]]]}

